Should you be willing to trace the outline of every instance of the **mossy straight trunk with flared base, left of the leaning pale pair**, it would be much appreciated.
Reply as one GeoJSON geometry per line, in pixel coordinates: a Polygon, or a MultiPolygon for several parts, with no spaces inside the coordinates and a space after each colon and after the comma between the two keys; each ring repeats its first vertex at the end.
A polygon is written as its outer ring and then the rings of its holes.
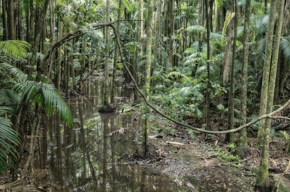
{"type": "MultiPolygon", "coordinates": [[[[242,77],[241,77],[241,114],[240,126],[247,123],[247,76],[248,76],[248,55],[249,55],[249,35],[250,35],[251,0],[246,0],[244,19],[244,39],[242,53],[242,77]]],[[[251,153],[247,143],[247,128],[240,130],[238,147],[235,154],[241,159],[251,153]]]]}

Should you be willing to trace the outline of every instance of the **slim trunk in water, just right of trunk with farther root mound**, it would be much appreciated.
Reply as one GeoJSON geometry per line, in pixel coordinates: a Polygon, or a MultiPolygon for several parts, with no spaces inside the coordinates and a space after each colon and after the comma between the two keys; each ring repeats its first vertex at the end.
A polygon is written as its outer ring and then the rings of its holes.
{"type": "MultiPolygon", "coordinates": [[[[122,0],[119,0],[118,7],[118,17],[117,19],[121,19],[121,11],[122,11],[122,0]]],[[[120,35],[120,21],[117,22],[117,33],[120,35]]],[[[117,59],[118,57],[118,44],[115,42],[115,55],[114,55],[114,64],[113,64],[113,78],[112,78],[112,91],[111,91],[111,103],[115,103],[115,81],[116,81],[116,71],[117,71],[117,59]]]]}

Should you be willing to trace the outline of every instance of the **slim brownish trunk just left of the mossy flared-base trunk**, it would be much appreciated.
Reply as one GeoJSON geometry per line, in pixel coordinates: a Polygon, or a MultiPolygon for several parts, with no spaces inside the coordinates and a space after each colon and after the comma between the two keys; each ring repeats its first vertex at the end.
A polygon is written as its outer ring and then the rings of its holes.
{"type": "MultiPolygon", "coordinates": [[[[228,124],[227,129],[234,128],[234,98],[235,98],[235,50],[236,50],[236,41],[237,41],[237,23],[238,23],[238,1],[232,4],[232,9],[235,8],[235,19],[234,19],[234,38],[233,38],[233,53],[232,53],[232,63],[231,63],[231,78],[230,78],[230,91],[229,91],[229,110],[228,110],[228,124]]],[[[234,143],[234,133],[226,134],[225,142],[234,143]]]]}

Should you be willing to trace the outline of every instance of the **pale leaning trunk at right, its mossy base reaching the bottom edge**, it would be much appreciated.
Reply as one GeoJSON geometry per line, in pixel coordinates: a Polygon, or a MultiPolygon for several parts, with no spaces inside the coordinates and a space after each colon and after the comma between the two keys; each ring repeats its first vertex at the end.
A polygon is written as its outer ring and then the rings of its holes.
{"type": "MultiPolygon", "coordinates": [[[[274,1],[271,2],[272,3],[274,1]]],[[[276,3],[276,2],[275,2],[276,3]]],[[[276,82],[276,72],[277,72],[277,62],[278,62],[278,54],[279,54],[279,46],[280,46],[280,36],[282,30],[282,19],[283,19],[283,10],[284,10],[284,1],[277,1],[277,8],[278,8],[278,19],[276,22],[276,34],[275,34],[275,44],[273,48],[273,58],[271,63],[271,72],[269,76],[268,72],[268,79],[269,81],[269,88],[268,88],[268,97],[267,97],[267,110],[266,113],[272,112],[273,107],[273,98],[274,98],[274,90],[275,90],[275,82],[276,82]]],[[[271,10],[271,9],[270,9],[271,10]]],[[[276,10],[276,8],[275,8],[276,10]]],[[[270,15],[271,17],[271,15],[270,15]]],[[[272,23],[268,24],[268,29],[271,27],[272,23]]],[[[274,26],[274,23],[273,23],[274,26]]],[[[270,42],[272,45],[272,41],[270,42]]],[[[266,57],[265,57],[266,59],[266,57]]],[[[267,73],[266,72],[266,73],[267,73]]],[[[265,70],[264,70],[265,73],[265,70]]],[[[262,99],[262,95],[261,95],[262,99]]],[[[263,138],[262,138],[262,150],[261,150],[261,158],[260,158],[260,166],[259,172],[257,175],[257,181],[255,184],[255,191],[268,191],[270,188],[270,180],[268,175],[268,158],[269,158],[269,135],[270,135],[270,126],[271,126],[271,119],[265,120],[264,130],[263,130],[263,138]]]]}

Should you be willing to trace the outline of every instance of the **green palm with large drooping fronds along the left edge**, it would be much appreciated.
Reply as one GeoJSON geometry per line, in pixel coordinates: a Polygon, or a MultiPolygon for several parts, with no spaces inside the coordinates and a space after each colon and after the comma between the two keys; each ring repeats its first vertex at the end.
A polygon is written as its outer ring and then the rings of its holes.
{"type": "MultiPolygon", "coordinates": [[[[12,63],[25,62],[23,59],[29,49],[24,41],[0,42],[0,172],[4,173],[11,164],[17,170],[19,158],[17,149],[21,148],[19,138],[23,137],[23,127],[19,118],[23,104],[30,103],[35,110],[45,108],[46,115],[59,112],[62,120],[73,123],[70,110],[58,90],[52,84],[29,81],[27,75],[12,63]],[[20,131],[22,129],[22,131],[20,131]],[[19,135],[19,133],[21,133],[19,135]],[[6,154],[6,152],[9,152],[6,154]],[[14,157],[14,158],[12,158],[14,157]],[[8,160],[8,162],[6,161],[8,160]]],[[[25,109],[26,111],[28,109],[25,109]]],[[[37,117],[35,117],[37,118],[37,117]]],[[[20,155],[21,156],[21,155],[20,155]]]]}

